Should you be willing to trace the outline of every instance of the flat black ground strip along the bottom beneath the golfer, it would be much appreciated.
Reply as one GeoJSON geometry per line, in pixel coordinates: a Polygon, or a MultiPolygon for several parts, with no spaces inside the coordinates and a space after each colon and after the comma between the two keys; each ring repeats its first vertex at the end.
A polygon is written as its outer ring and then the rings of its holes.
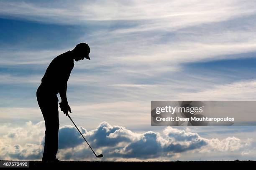
{"type": "MultiPolygon", "coordinates": [[[[2,162],[2,161],[1,161],[2,162]]],[[[61,163],[42,163],[40,161],[29,161],[29,168],[83,168],[85,169],[120,169],[120,168],[155,168],[159,170],[171,168],[231,168],[240,167],[248,168],[251,165],[256,165],[256,161],[173,161],[173,162],[61,162],[61,163]]],[[[252,166],[253,168],[254,166],[252,166]]],[[[0,168],[1,169],[1,168],[0,168]]],[[[28,169],[28,168],[24,168],[28,169]]],[[[121,169],[122,170],[122,169],[121,169]]],[[[134,169],[135,170],[135,169],[134,169]]]]}

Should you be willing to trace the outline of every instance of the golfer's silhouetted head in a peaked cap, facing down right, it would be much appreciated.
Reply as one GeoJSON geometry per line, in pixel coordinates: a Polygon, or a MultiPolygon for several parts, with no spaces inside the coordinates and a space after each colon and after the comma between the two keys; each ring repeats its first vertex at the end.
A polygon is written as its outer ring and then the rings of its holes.
{"type": "Polygon", "coordinates": [[[84,58],[91,60],[89,57],[90,53],[90,47],[88,44],[82,42],[80,44],[77,44],[77,46],[72,50],[74,52],[74,60],[79,61],[79,60],[84,60],[84,58]]]}

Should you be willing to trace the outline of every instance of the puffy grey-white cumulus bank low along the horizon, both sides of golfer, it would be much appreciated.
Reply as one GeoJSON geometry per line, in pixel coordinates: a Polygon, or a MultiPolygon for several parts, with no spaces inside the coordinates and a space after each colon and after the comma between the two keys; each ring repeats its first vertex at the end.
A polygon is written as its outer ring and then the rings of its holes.
{"type": "MultiPolygon", "coordinates": [[[[248,153],[251,141],[236,137],[202,138],[197,133],[166,127],[163,132],[148,131],[135,133],[122,126],[112,126],[102,122],[87,131],[79,127],[96,153],[103,153],[103,160],[172,160],[186,154],[240,152],[248,153]]],[[[0,158],[4,160],[40,160],[44,145],[44,122],[26,123],[23,127],[13,128],[1,135],[0,158]]],[[[63,126],[59,130],[59,152],[64,160],[94,160],[88,148],[74,126],[63,126]]]]}

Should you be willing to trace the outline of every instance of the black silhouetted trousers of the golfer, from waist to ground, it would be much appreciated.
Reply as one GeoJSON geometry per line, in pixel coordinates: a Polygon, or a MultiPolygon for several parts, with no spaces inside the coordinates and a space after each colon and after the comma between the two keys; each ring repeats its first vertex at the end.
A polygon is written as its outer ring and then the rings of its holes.
{"type": "Polygon", "coordinates": [[[58,152],[59,100],[56,93],[43,85],[38,87],[36,97],[45,121],[45,141],[42,160],[53,160],[58,152]]]}

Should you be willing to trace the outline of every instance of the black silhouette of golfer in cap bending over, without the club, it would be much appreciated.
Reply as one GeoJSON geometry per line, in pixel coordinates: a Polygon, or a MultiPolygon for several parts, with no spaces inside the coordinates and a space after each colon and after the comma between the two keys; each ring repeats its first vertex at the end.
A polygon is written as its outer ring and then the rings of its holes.
{"type": "Polygon", "coordinates": [[[46,69],[41,85],[36,91],[37,102],[43,113],[46,129],[42,161],[59,161],[56,158],[59,133],[57,93],[61,97],[61,111],[67,115],[68,112],[71,112],[67,101],[67,81],[74,67],[74,60],[79,61],[84,58],[90,60],[89,53],[89,45],[80,43],[72,51],[55,57],[46,69]]]}

